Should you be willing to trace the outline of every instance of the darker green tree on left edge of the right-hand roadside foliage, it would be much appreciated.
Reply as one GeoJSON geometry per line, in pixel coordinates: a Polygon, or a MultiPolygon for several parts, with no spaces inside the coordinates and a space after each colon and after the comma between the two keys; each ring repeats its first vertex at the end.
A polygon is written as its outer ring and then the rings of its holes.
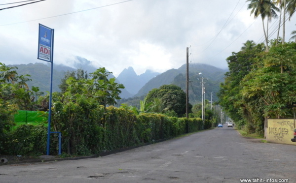
{"type": "MultiPolygon", "coordinates": [[[[248,110],[244,103],[241,103],[242,95],[240,91],[242,86],[240,82],[242,79],[251,72],[258,54],[264,49],[264,44],[258,44],[256,46],[249,46],[246,49],[246,45],[253,45],[254,41],[247,41],[242,50],[235,53],[233,52],[226,61],[228,63],[229,71],[225,73],[225,81],[221,84],[220,91],[218,93],[219,104],[222,106],[224,112],[238,124],[243,126],[248,124],[246,116],[248,110]]],[[[252,119],[251,119],[252,120],[252,119]]]]}

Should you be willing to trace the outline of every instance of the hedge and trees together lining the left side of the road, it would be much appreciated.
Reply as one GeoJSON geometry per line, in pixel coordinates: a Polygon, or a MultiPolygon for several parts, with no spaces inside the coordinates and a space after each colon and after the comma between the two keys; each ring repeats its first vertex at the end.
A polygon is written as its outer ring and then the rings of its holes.
{"type": "MultiPolygon", "coordinates": [[[[208,129],[216,122],[213,113],[203,122],[196,109],[191,118],[184,118],[185,92],[175,85],[150,91],[140,108],[126,104],[116,108],[124,86],[109,78],[110,73],[105,68],[89,74],[81,69],[66,72],[61,92],[53,93],[51,131],[62,133],[61,157],[153,143],[208,129]]],[[[27,81],[30,75],[19,76],[16,67],[0,63],[0,154],[46,153],[49,93],[29,88],[27,81]],[[38,111],[40,120],[31,122],[21,115],[30,111],[38,111]]],[[[56,155],[58,136],[53,133],[50,140],[50,154],[56,155]]]]}

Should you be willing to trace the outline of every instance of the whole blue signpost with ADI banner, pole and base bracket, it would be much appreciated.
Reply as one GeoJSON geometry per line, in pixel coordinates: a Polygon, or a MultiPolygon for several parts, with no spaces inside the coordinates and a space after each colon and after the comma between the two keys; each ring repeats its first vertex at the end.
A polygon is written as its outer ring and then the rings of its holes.
{"type": "Polygon", "coordinates": [[[50,133],[59,133],[59,147],[60,147],[59,154],[61,154],[61,133],[60,132],[50,132],[51,100],[52,100],[52,75],[53,75],[53,40],[54,40],[54,29],[50,29],[46,26],[39,24],[38,57],[37,57],[37,59],[42,60],[42,61],[48,61],[51,63],[48,130],[47,130],[47,151],[46,151],[47,155],[49,155],[50,133]]]}

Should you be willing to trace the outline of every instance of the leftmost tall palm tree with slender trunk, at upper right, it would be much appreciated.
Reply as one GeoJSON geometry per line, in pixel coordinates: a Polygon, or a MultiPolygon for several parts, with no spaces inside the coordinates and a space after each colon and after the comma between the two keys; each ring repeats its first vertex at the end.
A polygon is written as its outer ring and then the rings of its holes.
{"type": "MultiPolygon", "coordinates": [[[[251,14],[254,13],[254,18],[261,16],[262,19],[262,26],[263,26],[263,32],[265,37],[265,44],[266,44],[266,51],[268,52],[268,33],[265,31],[264,26],[264,19],[267,17],[268,21],[271,20],[271,18],[277,17],[275,11],[279,11],[279,9],[272,3],[271,0],[247,0],[250,1],[250,4],[248,4],[248,9],[251,10],[251,14]]],[[[268,30],[268,27],[267,27],[268,30]]]]}

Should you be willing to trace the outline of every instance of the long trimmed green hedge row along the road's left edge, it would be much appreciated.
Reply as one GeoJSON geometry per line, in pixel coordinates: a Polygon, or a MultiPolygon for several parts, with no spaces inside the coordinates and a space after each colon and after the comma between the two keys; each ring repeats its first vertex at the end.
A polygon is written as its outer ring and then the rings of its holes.
{"type": "MultiPolygon", "coordinates": [[[[105,113],[103,107],[95,106],[88,106],[88,111],[84,111],[85,108],[71,105],[57,104],[52,116],[52,131],[62,132],[62,151],[67,154],[97,154],[175,137],[187,130],[186,118],[151,113],[135,116],[132,111],[113,106],[105,113]]],[[[188,124],[189,132],[203,129],[201,119],[189,118],[188,124]]],[[[50,154],[57,154],[58,137],[55,135],[51,135],[50,154]]],[[[44,125],[24,124],[7,133],[6,137],[1,154],[46,153],[47,127],[44,125]]]]}

